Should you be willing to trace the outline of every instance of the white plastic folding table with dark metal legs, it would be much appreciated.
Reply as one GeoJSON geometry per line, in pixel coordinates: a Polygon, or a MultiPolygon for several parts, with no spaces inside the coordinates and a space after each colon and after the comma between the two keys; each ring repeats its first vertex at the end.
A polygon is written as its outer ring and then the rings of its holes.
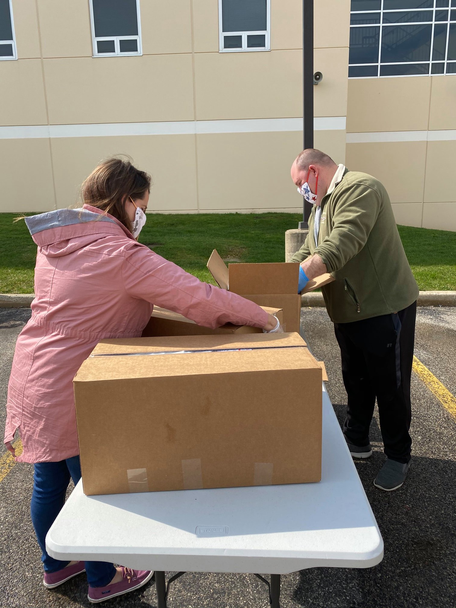
{"type": "MultiPolygon", "coordinates": [[[[119,459],[122,454],[119,454],[119,459]]],[[[383,541],[323,384],[320,483],[85,496],[81,482],[46,537],[62,560],[154,570],[157,605],[182,573],[267,573],[278,608],[280,575],[305,568],[368,568],[383,541]],[[165,571],[179,574],[165,584],[165,571]]]]}

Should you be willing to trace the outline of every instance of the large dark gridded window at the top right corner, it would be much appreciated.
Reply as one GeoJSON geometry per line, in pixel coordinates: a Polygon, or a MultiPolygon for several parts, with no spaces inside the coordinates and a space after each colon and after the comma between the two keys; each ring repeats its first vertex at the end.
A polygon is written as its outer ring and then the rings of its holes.
{"type": "Polygon", "coordinates": [[[456,74],[456,0],[351,0],[349,78],[456,74]]]}

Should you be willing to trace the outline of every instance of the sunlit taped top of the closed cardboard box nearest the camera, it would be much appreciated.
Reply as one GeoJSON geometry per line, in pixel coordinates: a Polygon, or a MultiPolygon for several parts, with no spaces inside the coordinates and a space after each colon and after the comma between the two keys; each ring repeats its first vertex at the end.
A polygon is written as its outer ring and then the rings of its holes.
{"type": "Polygon", "coordinates": [[[121,338],[98,343],[74,382],[299,369],[321,374],[297,333],[121,338]]]}

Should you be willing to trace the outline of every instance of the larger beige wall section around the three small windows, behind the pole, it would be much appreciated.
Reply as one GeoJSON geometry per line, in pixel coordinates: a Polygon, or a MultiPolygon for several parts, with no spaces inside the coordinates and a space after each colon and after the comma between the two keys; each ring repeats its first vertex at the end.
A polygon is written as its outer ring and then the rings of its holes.
{"type": "MultiPolygon", "coordinates": [[[[271,0],[271,50],[220,53],[216,0],[140,0],[141,56],[92,57],[88,0],[12,0],[0,61],[0,211],[74,205],[103,157],[153,175],[160,212],[302,210],[302,1],[271,0]]],[[[350,0],[315,6],[315,145],[345,161],[350,0]]]]}

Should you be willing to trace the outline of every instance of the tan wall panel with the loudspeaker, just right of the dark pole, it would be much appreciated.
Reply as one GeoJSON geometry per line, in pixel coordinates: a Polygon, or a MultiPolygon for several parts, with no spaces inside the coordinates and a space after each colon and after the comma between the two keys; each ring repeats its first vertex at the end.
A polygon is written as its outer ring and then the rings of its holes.
{"type": "Polygon", "coordinates": [[[314,86],[314,116],[347,116],[348,49],[316,49],[314,71],[323,74],[314,86]]]}

